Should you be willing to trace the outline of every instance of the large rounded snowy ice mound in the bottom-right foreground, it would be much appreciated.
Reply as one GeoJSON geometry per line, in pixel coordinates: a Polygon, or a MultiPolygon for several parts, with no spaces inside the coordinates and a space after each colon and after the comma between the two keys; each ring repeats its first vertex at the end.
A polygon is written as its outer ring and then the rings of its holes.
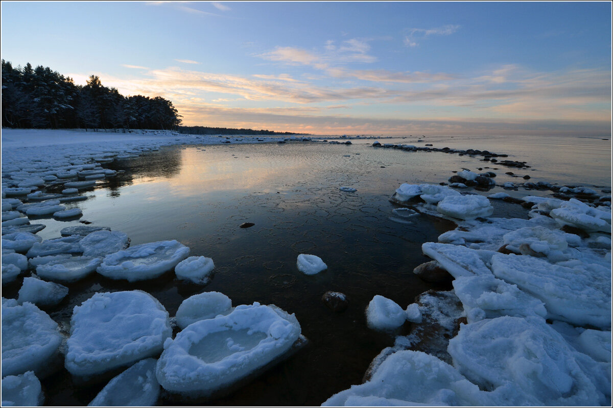
{"type": "Polygon", "coordinates": [[[449,341],[454,366],[485,390],[512,383],[536,404],[597,406],[606,401],[568,343],[543,319],[497,317],[469,325],[449,341]]]}

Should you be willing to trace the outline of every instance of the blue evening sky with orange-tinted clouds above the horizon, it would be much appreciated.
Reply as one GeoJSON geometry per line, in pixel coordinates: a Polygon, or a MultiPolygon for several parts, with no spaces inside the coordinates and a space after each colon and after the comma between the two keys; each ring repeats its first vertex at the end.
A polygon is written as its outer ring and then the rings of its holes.
{"type": "Polygon", "coordinates": [[[10,2],[2,59],[184,125],[611,135],[611,2],[10,2]]]}

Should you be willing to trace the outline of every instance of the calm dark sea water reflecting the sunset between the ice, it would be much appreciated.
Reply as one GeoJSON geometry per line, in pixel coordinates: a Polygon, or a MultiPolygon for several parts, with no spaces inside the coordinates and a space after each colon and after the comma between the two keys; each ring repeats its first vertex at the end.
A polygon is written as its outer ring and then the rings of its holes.
{"type": "MultiPolygon", "coordinates": [[[[611,141],[597,138],[417,138],[381,139],[461,149],[487,149],[527,161],[531,181],[611,188],[611,141]]],[[[69,322],[72,308],[95,292],[142,289],[173,316],[183,299],[203,291],[223,292],[233,305],[260,302],[295,313],[310,340],[294,357],[262,374],[217,405],[319,405],[359,384],[372,358],[393,338],[369,330],[364,310],[376,294],[403,307],[433,287],[412,270],[427,261],[424,242],[455,228],[449,221],[419,216],[399,223],[388,201],[398,185],[444,182],[463,168],[497,172],[497,182],[523,182],[508,168],[478,158],[440,152],[374,149],[373,141],[351,146],[287,143],[165,147],[109,166],[124,170],[86,193],[82,220],[126,232],[132,245],[177,239],[192,256],[213,258],[215,276],[207,286],[181,283],[168,273],[154,281],[124,283],[95,275],[70,286],[69,299],[49,310],[69,322]],[[345,193],[339,187],[357,188],[345,193]],[[239,228],[243,222],[255,225],[239,228]],[[297,270],[300,253],[316,254],[328,265],[318,275],[297,270]],[[326,291],[347,295],[349,308],[333,313],[321,302],[326,291]]],[[[502,191],[494,188],[489,193],[502,191]]],[[[489,194],[484,193],[484,194],[489,194]]],[[[512,195],[547,191],[511,191],[512,195]]],[[[495,203],[494,216],[526,217],[525,209],[495,203]]],[[[39,234],[59,236],[78,221],[45,220],[39,234]]],[[[72,384],[61,371],[43,381],[47,404],[83,405],[104,384],[72,384]]],[[[161,403],[174,404],[172,398],[161,403]]],[[[202,404],[202,401],[194,401],[202,404]]],[[[181,402],[185,404],[185,402],[181,402]]]]}

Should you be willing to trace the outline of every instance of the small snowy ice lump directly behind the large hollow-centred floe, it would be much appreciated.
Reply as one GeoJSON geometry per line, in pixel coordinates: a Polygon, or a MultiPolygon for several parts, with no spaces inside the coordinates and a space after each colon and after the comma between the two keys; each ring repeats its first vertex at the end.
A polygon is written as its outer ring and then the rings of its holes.
{"type": "Polygon", "coordinates": [[[190,324],[213,319],[218,314],[227,314],[232,309],[232,300],[219,292],[204,292],[183,300],[177,310],[177,325],[186,328],[190,324]]]}

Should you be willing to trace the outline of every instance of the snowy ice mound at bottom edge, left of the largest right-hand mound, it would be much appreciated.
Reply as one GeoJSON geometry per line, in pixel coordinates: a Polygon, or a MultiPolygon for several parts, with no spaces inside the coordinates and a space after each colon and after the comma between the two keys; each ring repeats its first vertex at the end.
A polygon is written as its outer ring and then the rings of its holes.
{"type": "Polygon", "coordinates": [[[357,398],[378,402],[378,406],[477,406],[488,405],[484,393],[458,371],[438,358],[419,351],[398,351],[384,360],[369,381],[341,391],[322,406],[353,406],[357,398]]]}

